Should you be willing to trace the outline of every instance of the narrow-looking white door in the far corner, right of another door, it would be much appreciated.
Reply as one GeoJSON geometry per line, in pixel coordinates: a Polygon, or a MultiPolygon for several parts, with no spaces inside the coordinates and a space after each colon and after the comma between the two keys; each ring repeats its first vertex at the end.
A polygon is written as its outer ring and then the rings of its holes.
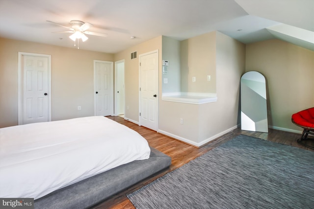
{"type": "Polygon", "coordinates": [[[114,115],[119,116],[124,115],[125,112],[124,60],[117,61],[114,63],[114,72],[115,72],[114,115]]]}

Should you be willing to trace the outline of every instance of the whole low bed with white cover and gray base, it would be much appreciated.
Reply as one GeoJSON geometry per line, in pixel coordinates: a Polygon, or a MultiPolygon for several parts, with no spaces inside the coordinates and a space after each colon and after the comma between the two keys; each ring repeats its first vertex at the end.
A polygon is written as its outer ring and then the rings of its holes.
{"type": "Polygon", "coordinates": [[[0,197],[34,198],[35,208],[88,208],[170,164],[103,116],[0,129],[0,197]],[[73,195],[88,203],[78,207],[73,195]]]}

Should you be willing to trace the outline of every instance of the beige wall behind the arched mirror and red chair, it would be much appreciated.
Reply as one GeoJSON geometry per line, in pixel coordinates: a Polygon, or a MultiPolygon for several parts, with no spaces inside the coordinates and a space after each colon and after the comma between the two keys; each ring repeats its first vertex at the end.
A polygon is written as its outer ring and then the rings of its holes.
{"type": "Polygon", "coordinates": [[[277,39],[246,45],[246,71],[266,77],[268,124],[299,130],[291,115],[314,107],[314,51],[277,39]]]}

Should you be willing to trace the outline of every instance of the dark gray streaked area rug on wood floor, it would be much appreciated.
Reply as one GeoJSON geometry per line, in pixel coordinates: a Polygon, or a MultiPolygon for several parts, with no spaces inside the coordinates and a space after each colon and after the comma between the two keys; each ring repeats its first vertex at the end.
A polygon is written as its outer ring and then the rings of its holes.
{"type": "Polygon", "coordinates": [[[128,198],[136,209],[314,209],[314,152],[240,135],[128,198]]]}

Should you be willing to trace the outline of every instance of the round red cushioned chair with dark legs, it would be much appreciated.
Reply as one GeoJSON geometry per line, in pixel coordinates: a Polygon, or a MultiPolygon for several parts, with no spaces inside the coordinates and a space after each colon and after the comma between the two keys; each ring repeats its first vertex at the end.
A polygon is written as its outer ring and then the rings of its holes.
{"type": "Polygon", "coordinates": [[[305,140],[314,139],[308,137],[308,135],[314,135],[314,107],[293,114],[291,121],[295,125],[304,129],[301,138],[298,139],[298,142],[314,149],[314,147],[303,143],[305,140]]]}

